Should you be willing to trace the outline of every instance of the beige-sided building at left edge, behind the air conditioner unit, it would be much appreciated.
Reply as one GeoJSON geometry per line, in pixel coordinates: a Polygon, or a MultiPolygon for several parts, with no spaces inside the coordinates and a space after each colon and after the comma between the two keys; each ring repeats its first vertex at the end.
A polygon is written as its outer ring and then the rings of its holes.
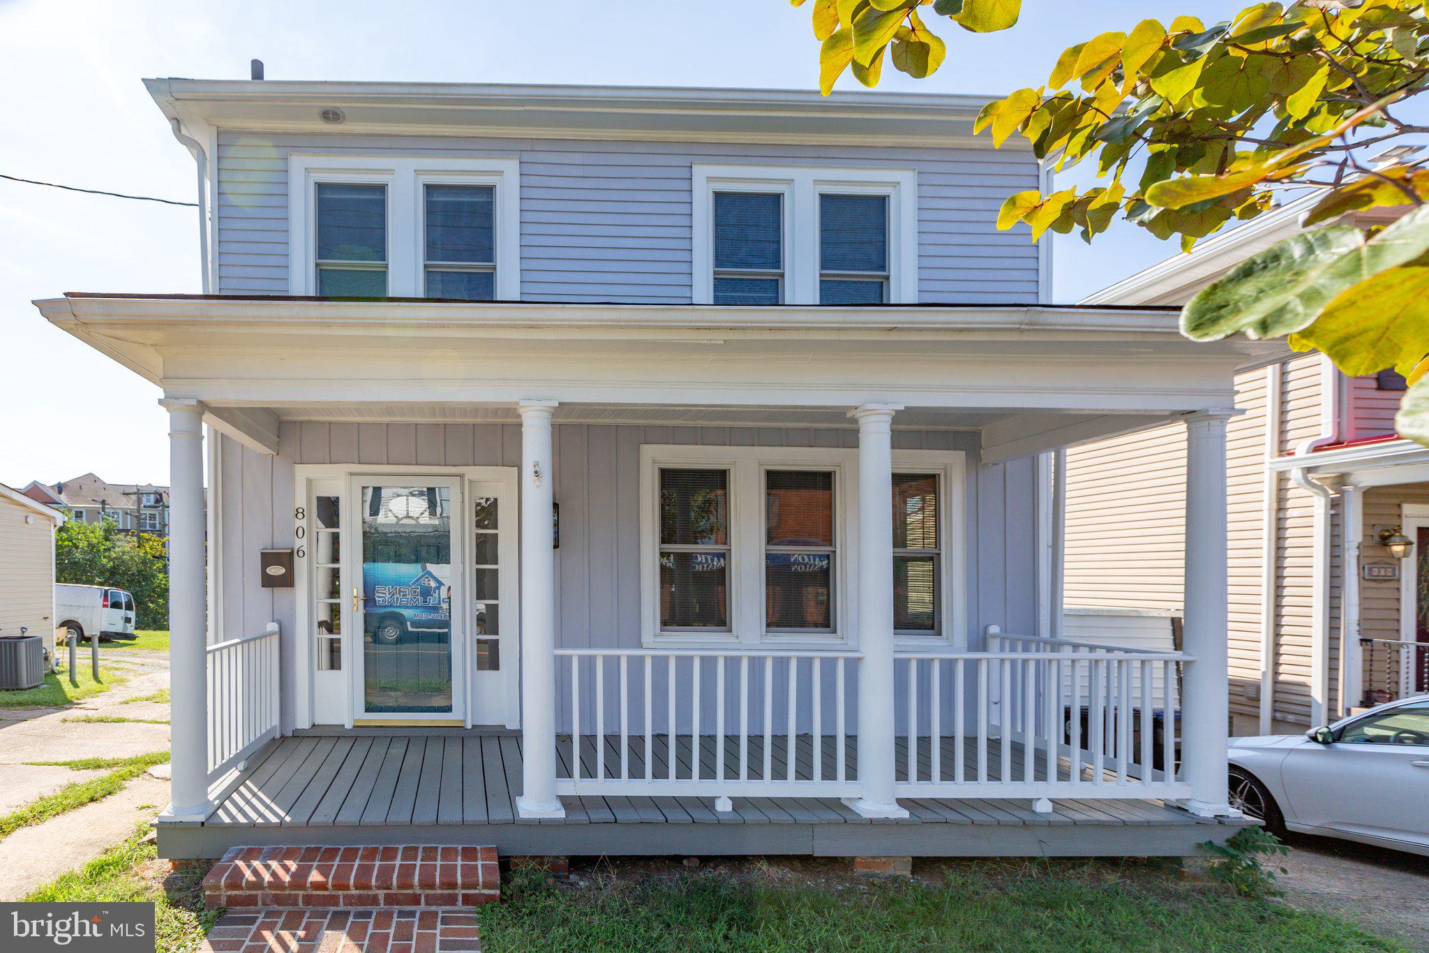
{"type": "Polygon", "coordinates": [[[54,530],[64,514],[0,483],[0,636],[54,636],[54,530]]]}

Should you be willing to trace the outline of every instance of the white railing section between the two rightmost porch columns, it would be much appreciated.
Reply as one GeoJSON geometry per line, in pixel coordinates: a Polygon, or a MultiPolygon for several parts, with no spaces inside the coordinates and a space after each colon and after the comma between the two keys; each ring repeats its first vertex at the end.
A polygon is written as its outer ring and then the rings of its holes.
{"type": "Polygon", "coordinates": [[[900,656],[900,797],[1187,797],[1179,652],[989,632],[989,652],[900,656]],[[949,710],[949,692],[963,692],[949,710]],[[1170,773],[1166,772],[1170,766],[1170,773]]]}

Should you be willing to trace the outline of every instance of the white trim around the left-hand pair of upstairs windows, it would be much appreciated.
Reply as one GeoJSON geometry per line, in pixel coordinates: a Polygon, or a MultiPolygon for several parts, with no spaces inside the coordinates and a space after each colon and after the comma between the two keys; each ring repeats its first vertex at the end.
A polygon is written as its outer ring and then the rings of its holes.
{"type": "Polygon", "coordinates": [[[317,183],[387,186],[387,296],[426,296],[423,187],[492,186],[496,299],[522,297],[520,160],[490,157],[300,156],[287,159],[289,293],[316,294],[317,183]]]}

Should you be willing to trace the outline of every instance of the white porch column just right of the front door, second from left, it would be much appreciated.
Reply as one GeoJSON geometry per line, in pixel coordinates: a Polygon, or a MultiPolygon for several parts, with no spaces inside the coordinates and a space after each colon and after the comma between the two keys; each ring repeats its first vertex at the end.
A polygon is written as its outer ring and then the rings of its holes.
{"type": "Polygon", "coordinates": [[[564,817],[556,797],[556,556],[552,550],[553,400],[522,413],[522,817],[564,817]]]}

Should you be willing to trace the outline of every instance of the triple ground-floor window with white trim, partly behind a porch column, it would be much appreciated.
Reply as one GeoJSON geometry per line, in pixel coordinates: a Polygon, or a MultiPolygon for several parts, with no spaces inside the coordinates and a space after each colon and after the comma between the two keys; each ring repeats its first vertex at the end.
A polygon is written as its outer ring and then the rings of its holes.
{"type": "MultiPolygon", "coordinates": [[[[963,453],[893,454],[893,627],[965,646],[963,453]]],[[[857,450],[640,447],[642,644],[857,644],[857,450]]]]}

